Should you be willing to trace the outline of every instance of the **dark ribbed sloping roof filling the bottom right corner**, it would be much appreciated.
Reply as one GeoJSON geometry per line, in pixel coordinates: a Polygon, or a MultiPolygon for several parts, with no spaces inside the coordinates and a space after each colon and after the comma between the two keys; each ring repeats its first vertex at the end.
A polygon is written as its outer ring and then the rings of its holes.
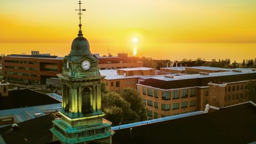
{"type": "MultiPolygon", "coordinates": [[[[254,104],[255,105],[255,104],[254,104]]],[[[256,141],[251,103],[201,115],[115,130],[115,143],[250,143],[256,141]]]]}

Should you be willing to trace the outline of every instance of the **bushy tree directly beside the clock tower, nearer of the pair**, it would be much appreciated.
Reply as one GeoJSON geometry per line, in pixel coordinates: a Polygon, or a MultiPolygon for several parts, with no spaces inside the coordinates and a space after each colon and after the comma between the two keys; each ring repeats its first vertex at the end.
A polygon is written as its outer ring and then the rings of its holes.
{"type": "Polygon", "coordinates": [[[101,109],[113,125],[139,122],[139,116],[130,108],[130,103],[114,92],[101,94],[101,109]]]}

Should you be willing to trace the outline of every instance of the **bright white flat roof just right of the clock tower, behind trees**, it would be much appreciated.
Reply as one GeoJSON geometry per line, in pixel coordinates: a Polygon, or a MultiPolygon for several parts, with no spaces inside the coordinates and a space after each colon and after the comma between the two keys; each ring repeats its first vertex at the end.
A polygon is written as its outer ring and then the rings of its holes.
{"type": "Polygon", "coordinates": [[[125,79],[125,78],[138,78],[138,77],[147,77],[147,76],[141,76],[141,75],[136,75],[136,76],[123,76],[123,75],[118,75],[116,69],[105,69],[105,70],[100,70],[100,74],[106,76],[104,79],[125,79]]]}

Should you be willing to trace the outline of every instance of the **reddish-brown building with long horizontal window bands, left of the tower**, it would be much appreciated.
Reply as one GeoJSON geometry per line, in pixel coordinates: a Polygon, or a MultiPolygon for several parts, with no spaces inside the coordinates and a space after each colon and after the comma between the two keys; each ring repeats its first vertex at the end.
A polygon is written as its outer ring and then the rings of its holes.
{"type": "Polygon", "coordinates": [[[62,71],[62,58],[50,54],[11,54],[2,58],[3,76],[9,82],[45,84],[46,78],[62,71]]]}

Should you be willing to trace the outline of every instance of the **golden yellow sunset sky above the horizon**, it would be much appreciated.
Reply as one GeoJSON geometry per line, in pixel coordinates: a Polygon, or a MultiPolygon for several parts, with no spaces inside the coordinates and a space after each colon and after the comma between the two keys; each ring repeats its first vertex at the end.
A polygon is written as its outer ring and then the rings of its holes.
{"type": "MultiPolygon", "coordinates": [[[[0,43],[71,43],[78,33],[77,3],[1,0],[0,43]]],[[[255,0],[82,3],[82,30],[90,43],[131,43],[133,37],[139,43],[256,43],[255,0]]]]}

